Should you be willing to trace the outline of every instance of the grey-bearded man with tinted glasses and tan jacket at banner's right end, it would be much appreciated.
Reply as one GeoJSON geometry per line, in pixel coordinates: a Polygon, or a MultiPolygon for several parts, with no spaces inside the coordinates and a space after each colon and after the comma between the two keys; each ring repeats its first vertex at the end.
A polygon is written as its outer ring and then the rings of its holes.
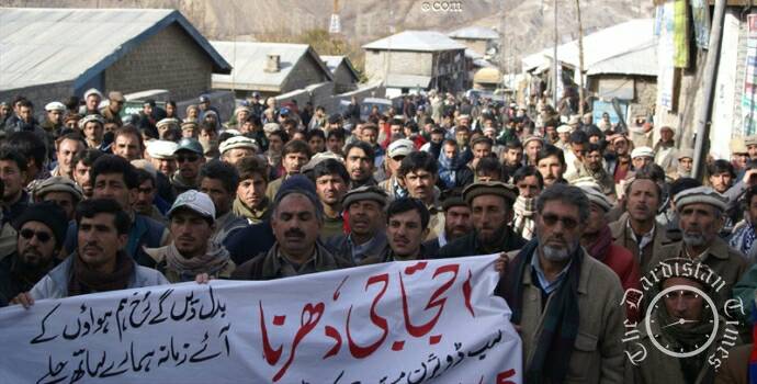
{"type": "Polygon", "coordinates": [[[589,201],[555,184],[536,200],[536,237],[510,261],[496,293],[523,340],[524,381],[623,383],[623,291],[580,247],[589,201]]]}

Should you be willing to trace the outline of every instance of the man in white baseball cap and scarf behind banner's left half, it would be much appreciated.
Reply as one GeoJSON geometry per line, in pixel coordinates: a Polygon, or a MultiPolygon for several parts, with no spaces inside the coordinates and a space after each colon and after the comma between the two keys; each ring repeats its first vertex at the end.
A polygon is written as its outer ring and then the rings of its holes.
{"type": "Polygon", "coordinates": [[[180,194],[168,211],[170,245],[148,248],[155,269],[171,283],[194,281],[199,274],[228,279],[236,266],[228,251],[211,239],[215,228],[215,206],[211,197],[194,190],[180,194]]]}

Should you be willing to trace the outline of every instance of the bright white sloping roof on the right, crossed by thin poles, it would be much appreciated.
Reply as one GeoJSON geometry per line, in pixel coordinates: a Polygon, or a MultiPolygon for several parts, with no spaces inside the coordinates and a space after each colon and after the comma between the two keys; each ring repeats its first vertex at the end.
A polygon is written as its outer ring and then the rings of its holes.
{"type": "MultiPolygon", "coordinates": [[[[584,68],[591,70],[595,64],[612,57],[622,60],[622,55],[633,53],[654,43],[654,20],[635,19],[617,24],[605,30],[584,36],[584,68]]],[[[533,55],[526,56],[521,61],[524,70],[549,65],[552,60],[553,48],[545,48],[533,55]]],[[[566,65],[578,67],[578,41],[572,41],[557,46],[557,59],[566,65]]],[[[657,65],[657,55],[647,58],[653,66],[657,65]]],[[[619,61],[615,61],[619,65],[619,61]]],[[[607,65],[607,64],[606,64],[607,65]]],[[[630,67],[629,69],[633,69],[630,67]]],[[[629,72],[629,75],[636,75],[629,72]]],[[[644,75],[644,74],[637,74],[644,75]]]]}

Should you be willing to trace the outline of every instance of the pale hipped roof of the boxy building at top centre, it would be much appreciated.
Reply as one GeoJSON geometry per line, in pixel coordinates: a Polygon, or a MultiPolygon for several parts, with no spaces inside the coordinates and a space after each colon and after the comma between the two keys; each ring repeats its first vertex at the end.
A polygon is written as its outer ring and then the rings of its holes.
{"type": "Polygon", "coordinates": [[[437,52],[465,49],[465,45],[437,31],[404,31],[363,45],[364,49],[437,52]]]}

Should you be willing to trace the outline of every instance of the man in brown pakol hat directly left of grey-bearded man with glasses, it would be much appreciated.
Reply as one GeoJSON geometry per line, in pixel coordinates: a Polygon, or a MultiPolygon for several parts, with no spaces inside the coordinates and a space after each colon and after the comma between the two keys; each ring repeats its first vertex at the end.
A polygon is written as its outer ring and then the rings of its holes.
{"type": "Polygon", "coordinates": [[[471,207],[473,231],[448,242],[438,258],[489,255],[520,249],[526,240],[510,229],[512,203],[517,192],[502,182],[475,182],[463,190],[463,200],[471,207]]]}

